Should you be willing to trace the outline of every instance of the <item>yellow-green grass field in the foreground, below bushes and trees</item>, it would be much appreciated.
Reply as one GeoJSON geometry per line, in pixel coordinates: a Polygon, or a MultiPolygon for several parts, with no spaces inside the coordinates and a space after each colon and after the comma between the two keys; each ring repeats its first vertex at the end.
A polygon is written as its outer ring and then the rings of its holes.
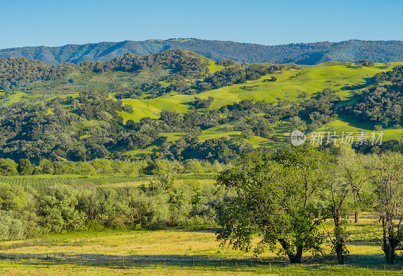
{"type": "MultiPolygon", "coordinates": [[[[331,223],[324,227],[330,228],[331,223]]],[[[403,275],[401,258],[393,266],[384,264],[381,228],[371,214],[362,215],[360,223],[350,222],[348,230],[352,234],[347,241],[350,254],[343,266],[315,258],[290,265],[287,258],[272,252],[256,258],[251,252],[220,246],[215,229],[104,230],[0,242],[0,273],[403,275]]]]}

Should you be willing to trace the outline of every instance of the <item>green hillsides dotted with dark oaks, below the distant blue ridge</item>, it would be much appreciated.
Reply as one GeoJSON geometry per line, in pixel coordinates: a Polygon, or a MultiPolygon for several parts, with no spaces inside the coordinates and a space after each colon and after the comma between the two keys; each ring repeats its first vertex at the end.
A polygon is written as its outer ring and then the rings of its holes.
{"type": "Polygon", "coordinates": [[[216,63],[185,50],[78,65],[3,58],[0,157],[229,162],[250,147],[288,145],[295,128],[382,127],[396,139],[396,65],[216,63]]]}

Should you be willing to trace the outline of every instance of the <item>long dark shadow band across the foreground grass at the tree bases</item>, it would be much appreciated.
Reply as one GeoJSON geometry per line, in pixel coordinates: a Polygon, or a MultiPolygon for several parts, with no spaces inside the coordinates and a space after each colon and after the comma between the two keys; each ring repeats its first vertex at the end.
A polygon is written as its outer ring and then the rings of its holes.
{"type": "MultiPolygon", "coordinates": [[[[259,258],[225,258],[207,255],[187,255],[187,254],[130,254],[127,255],[107,255],[107,254],[72,254],[69,252],[53,252],[51,254],[2,254],[0,260],[13,260],[17,262],[25,261],[25,263],[34,262],[38,264],[38,259],[50,264],[78,264],[82,266],[121,266],[123,263],[127,267],[140,267],[150,265],[163,266],[253,266],[253,267],[273,267],[274,269],[287,267],[302,268],[309,270],[326,269],[336,267],[335,256],[327,260],[318,258],[310,258],[309,262],[303,264],[290,264],[285,257],[271,257],[265,259],[259,258]]],[[[134,253],[134,252],[133,252],[134,253]]],[[[368,268],[373,270],[401,270],[403,261],[396,258],[393,265],[387,265],[383,254],[351,254],[345,256],[345,265],[338,268],[368,268]]]]}

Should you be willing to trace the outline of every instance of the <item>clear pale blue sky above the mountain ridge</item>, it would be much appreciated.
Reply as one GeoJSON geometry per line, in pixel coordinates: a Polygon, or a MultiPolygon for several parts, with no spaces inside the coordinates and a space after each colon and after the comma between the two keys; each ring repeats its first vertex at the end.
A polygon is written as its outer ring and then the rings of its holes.
{"type": "Polygon", "coordinates": [[[403,1],[0,2],[0,48],[196,37],[265,45],[403,40],[403,1]]]}

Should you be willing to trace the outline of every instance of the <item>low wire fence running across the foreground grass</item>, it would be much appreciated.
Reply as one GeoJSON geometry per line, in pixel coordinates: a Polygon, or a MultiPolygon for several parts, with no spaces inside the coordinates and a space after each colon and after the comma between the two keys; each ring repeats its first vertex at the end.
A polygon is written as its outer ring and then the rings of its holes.
{"type": "Polygon", "coordinates": [[[1,262],[14,262],[22,265],[76,265],[88,267],[108,267],[108,268],[135,268],[135,267],[225,267],[225,268],[245,268],[245,267],[264,267],[273,272],[297,272],[297,271],[328,271],[342,272],[346,269],[359,268],[367,270],[399,271],[403,273],[402,264],[393,265],[359,265],[345,264],[337,265],[335,263],[300,263],[290,264],[281,261],[265,261],[259,259],[213,259],[200,258],[199,256],[182,257],[162,257],[152,255],[129,255],[129,256],[107,256],[97,254],[79,254],[74,256],[60,256],[52,254],[0,254],[1,262]],[[45,256],[46,255],[46,256],[45,256]]]}

